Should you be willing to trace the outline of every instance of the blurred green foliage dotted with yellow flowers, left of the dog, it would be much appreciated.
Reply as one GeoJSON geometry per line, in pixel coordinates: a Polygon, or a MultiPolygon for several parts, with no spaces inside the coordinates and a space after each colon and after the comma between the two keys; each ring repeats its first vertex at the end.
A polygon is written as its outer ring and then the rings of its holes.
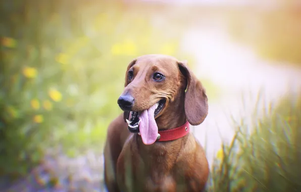
{"type": "Polygon", "coordinates": [[[2,0],[0,14],[1,174],[26,173],[49,147],[102,151],[128,63],[189,59],[180,30],[118,1],[2,0]]]}

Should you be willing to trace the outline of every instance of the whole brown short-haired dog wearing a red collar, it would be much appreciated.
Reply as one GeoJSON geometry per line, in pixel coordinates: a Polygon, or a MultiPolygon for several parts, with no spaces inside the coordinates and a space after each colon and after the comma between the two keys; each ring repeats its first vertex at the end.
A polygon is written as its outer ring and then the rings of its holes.
{"type": "Polygon", "coordinates": [[[186,62],[164,55],[133,60],[118,104],[124,114],[110,124],[104,153],[108,191],[202,191],[208,161],[188,122],[202,123],[208,103],[186,62]]]}

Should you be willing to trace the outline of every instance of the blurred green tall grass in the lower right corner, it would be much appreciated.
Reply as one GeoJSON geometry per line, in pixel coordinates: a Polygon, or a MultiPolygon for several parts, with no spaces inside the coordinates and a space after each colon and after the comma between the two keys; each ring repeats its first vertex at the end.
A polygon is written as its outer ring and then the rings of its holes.
{"type": "MultiPolygon", "coordinates": [[[[301,97],[287,97],[266,115],[244,121],[229,146],[223,145],[208,191],[301,191],[301,97]]],[[[259,110],[259,109],[257,109],[259,110]]]]}

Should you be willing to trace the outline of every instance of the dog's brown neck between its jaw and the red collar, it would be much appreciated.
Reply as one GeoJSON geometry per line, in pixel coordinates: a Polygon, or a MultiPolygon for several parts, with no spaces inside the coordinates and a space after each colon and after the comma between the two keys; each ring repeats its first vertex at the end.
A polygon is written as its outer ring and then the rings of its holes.
{"type": "Polygon", "coordinates": [[[164,113],[156,119],[159,130],[180,127],[187,121],[184,109],[185,92],[179,92],[173,102],[170,102],[164,113]]]}

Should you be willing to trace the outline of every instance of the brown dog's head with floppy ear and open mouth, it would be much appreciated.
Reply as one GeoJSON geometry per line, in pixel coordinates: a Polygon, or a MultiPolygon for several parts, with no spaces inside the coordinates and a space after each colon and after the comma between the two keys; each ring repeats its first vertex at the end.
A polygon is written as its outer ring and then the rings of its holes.
{"type": "Polygon", "coordinates": [[[130,62],[125,74],[125,89],[118,99],[129,130],[139,132],[140,121],[143,126],[154,123],[178,93],[185,94],[188,122],[191,125],[202,123],[208,114],[207,95],[186,62],[164,55],[145,55],[130,62]],[[132,117],[128,120],[130,112],[132,117]]]}

